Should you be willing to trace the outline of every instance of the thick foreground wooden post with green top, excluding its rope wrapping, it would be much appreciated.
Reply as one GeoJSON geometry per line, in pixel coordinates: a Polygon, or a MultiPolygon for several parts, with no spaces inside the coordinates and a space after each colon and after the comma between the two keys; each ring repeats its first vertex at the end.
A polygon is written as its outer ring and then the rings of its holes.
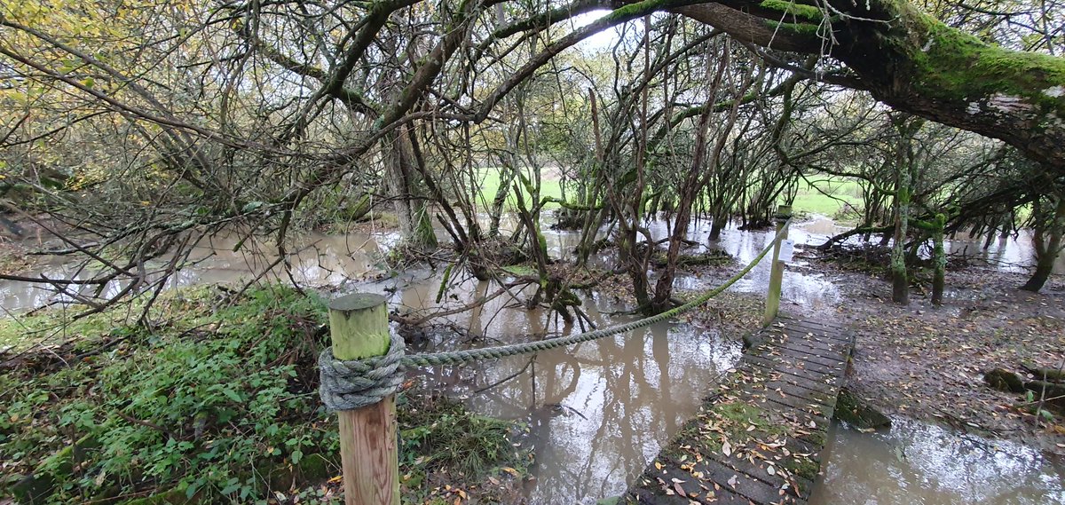
{"type": "MultiPolygon", "coordinates": [[[[341,360],[381,356],[389,351],[386,298],[355,293],[329,303],[333,356],[341,360]]],[[[346,505],[399,505],[399,447],[396,403],[389,396],[376,405],[340,414],[340,459],[346,505]]]]}

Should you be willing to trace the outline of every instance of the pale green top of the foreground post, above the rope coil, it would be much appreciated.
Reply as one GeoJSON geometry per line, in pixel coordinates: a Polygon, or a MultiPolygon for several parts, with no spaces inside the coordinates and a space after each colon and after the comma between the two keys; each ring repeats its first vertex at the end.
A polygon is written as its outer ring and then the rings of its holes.
{"type": "Polygon", "coordinates": [[[387,298],[351,293],[329,302],[329,335],[337,359],[363,359],[389,352],[387,298]]]}

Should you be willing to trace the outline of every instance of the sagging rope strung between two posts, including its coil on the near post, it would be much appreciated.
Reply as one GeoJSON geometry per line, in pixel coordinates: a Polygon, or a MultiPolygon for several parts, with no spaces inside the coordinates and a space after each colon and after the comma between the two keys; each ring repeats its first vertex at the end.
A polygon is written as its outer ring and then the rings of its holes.
{"type": "MultiPolygon", "coordinates": [[[[790,222],[790,219],[789,219],[790,222]]],[[[782,230],[787,229],[785,223],[782,230]]],[[[739,279],[750,273],[773,246],[784,237],[777,232],[772,242],[758,254],[742,270],[728,278],[723,284],[707,291],[691,302],[667,310],[650,317],[633,321],[608,328],[596,329],[584,333],[560,337],[557,339],[522,342],[518,344],[480,347],[474,349],[452,351],[447,353],[428,353],[405,355],[405,343],[402,337],[392,336],[389,352],[384,356],[374,356],[361,360],[341,361],[333,357],[332,347],[328,347],[318,356],[320,377],[322,387],[318,394],[329,410],[354,410],[376,404],[386,396],[395,393],[403,382],[403,370],[413,366],[432,366],[442,364],[461,364],[487,359],[499,359],[508,356],[541,353],[558,347],[566,347],[583,342],[590,342],[606,337],[624,333],[634,329],[651,326],[670,317],[681,315],[717,296],[739,279]]]]}

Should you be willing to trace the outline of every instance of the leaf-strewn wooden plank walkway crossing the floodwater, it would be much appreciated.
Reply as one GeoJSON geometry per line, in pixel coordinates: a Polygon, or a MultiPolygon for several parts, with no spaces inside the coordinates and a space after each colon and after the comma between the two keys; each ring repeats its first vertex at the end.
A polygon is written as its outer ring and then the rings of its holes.
{"type": "Polygon", "coordinates": [[[621,503],[806,503],[854,335],[781,316],[754,342],[621,503]]]}

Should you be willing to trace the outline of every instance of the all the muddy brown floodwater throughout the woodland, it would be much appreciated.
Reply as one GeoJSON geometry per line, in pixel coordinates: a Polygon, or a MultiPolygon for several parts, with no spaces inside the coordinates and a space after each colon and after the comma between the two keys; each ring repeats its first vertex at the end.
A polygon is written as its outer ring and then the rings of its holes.
{"type": "MultiPolygon", "coordinates": [[[[650,229],[655,237],[667,233],[661,222],[652,223],[650,229]]],[[[791,239],[800,245],[817,244],[836,229],[831,221],[815,221],[794,226],[791,239]]],[[[705,224],[697,224],[689,239],[706,243],[708,231],[705,224]]],[[[577,241],[573,232],[546,231],[545,235],[551,254],[557,258],[571,255],[577,241]]],[[[313,287],[378,292],[389,296],[390,305],[409,314],[460,306],[489,292],[486,283],[460,279],[438,304],[440,277],[429,271],[405,272],[378,282],[361,281],[365,274],[380,271],[380,258],[396,239],[394,233],[308,235],[291,247],[299,250],[290,259],[293,277],[313,287]]],[[[726,229],[712,246],[723,248],[743,264],[769,239],[764,231],[726,229]]],[[[233,252],[236,240],[220,237],[201,244],[194,252],[196,266],[171,279],[171,287],[235,282],[272,263],[268,255],[233,252]]],[[[1010,258],[1026,254],[1018,241],[1006,241],[1002,247],[1009,252],[1000,255],[1007,259],[1000,267],[1014,267],[1010,258]]],[[[609,264],[611,258],[605,256],[596,261],[609,264]]],[[[681,276],[676,286],[708,289],[733,271],[723,268],[720,276],[712,277],[681,276]]],[[[51,263],[30,274],[38,273],[64,277],[71,270],[51,263]]],[[[286,278],[279,270],[269,275],[286,278]]],[[[763,293],[767,281],[768,261],[733,290],[763,293]]],[[[840,303],[835,281],[797,260],[785,275],[783,310],[831,317],[830,309],[840,303]]],[[[50,299],[54,299],[53,294],[39,288],[0,282],[0,302],[6,311],[37,307],[50,299]]],[[[543,312],[509,308],[509,303],[499,297],[473,312],[435,320],[437,331],[430,332],[425,342],[412,345],[448,348],[469,339],[491,345],[523,341],[529,336],[579,331],[548,320],[543,312]]],[[[626,307],[617,305],[608,295],[586,295],[584,308],[601,327],[634,319],[613,315],[626,307]]],[[[537,457],[531,469],[534,478],[525,489],[528,503],[593,504],[622,493],[661,444],[694,414],[715,380],[739,359],[738,339],[720,335],[716,328],[662,323],[569,349],[541,353],[535,358],[433,368],[422,373],[430,387],[465,398],[479,413],[528,425],[526,443],[532,445],[537,457]]],[[[980,449],[973,447],[969,437],[904,419],[897,420],[888,434],[859,434],[836,427],[822,483],[812,503],[1065,504],[1065,468],[1060,462],[1046,461],[1027,447],[1006,442],[981,442],[980,449]],[[998,449],[992,451],[988,446],[998,449]]]]}

